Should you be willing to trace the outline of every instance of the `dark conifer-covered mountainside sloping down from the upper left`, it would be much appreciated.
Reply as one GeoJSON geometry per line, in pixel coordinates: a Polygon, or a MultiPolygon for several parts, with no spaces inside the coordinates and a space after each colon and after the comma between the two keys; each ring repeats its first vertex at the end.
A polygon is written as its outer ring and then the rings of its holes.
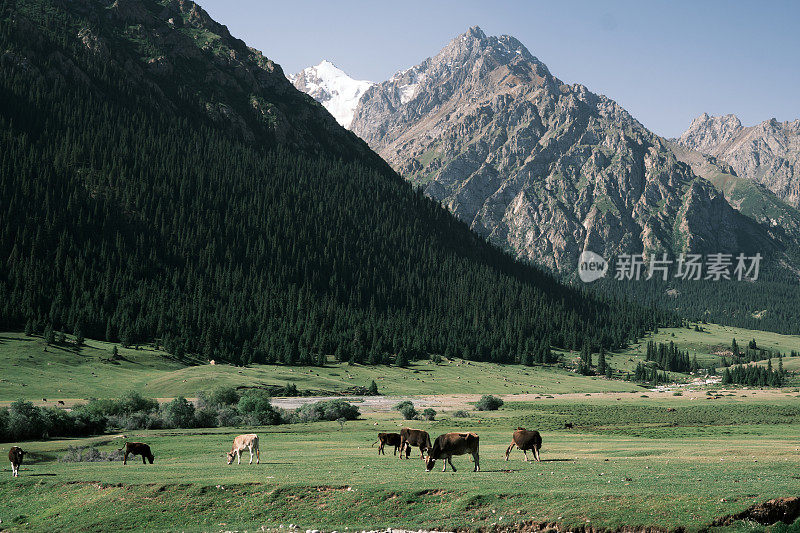
{"type": "Polygon", "coordinates": [[[486,244],[191,2],[0,0],[4,328],[377,363],[670,320],[486,244]]]}

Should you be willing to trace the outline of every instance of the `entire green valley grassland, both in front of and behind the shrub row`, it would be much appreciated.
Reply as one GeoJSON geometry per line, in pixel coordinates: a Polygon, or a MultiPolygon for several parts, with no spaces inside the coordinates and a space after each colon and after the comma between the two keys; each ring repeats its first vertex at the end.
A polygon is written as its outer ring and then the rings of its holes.
{"type": "MultiPolygon", "coordinates": [[[[790,352],[800,339],[715,325],[706,331],[666,329],[649,337],[674,341],[714,362],[736,338],[790,352]]],[[[609,362],[625,372],[643,357],[649,338],[609,362]]],[[[171,398],[194,397],[219,385],[296,383],[318,393],[378,383],[385,395],[439,398],[435,421],[403,421],[394,411],[361,406],[358,420],[269,427],[124,432],[151,445],[155,464],[136,458],[65,462],[72,446],[101,452],[122,439],[102,435],[0,444],[30,452],[12,479],[3,461],[0,528],[11,531],[345,531],[375,528],[513,531],[521,527],[627,531],[707,531],[721,517],[777,497],[800,494],[800,391],[693,388],[653,393],[634,383],[584,377],[556,367],[498,366],[445,361],[408,368],[330,364],[324,368],[236,368],[179,361],[148,347],[119,348],[88,340],[80,350],[45,346],[38,337],[0,335],[0,400],[67,405],[126,390],[171,398]],[[474,411],[478,394],[500,394],[505,405],[474,411]],[[676,393],[677,394],[677,393],[676,393]],[[464,396],[473,395],[473,396],[464,396]],[[47,402],[42,402],[47,398],[47,402]],[[454,417],[467,410],[466,418],[454,417]],[[565,429],[565,423],[573,429],[565,429]],[[437,462],[425,472],[410,460],[377,455],[378,431],[403,425],[435,438],[448,431],[480,435],[480,472],[466,456],[457,472],[437,462]],[[541,463],[515,450],[503,459],[517,426],[543,436],[541,463]],[[261,437],[259,465],[227,465],[235,435],[261,437]]],[[[569,362],[574,354],[564,353],[569,362]]],[[[800,370],[800,358],[785,367],[800,370]]],[[[688,379],[688,376],[685,376],[688,379]]],[[[248,455],[243,457],[245,462],[248,455]]],[[[735,521],[724,530],[796,531],[735,521]]],[[[794,528],[794,529],[792,529],[794,528]]]]}

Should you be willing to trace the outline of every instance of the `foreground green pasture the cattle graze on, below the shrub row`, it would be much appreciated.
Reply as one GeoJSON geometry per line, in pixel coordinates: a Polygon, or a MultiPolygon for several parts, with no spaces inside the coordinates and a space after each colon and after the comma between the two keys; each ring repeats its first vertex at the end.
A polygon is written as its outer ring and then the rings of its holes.
{"type": "MultiPolygon", "coordinates": [[[[523,522],[565,528],[656,526],[690,531],[713,519],[800,493],[800,402],[773,394],[700,402],[626,395],[508,403],[466,419],[415,422],[433,436],[481,437],[481,472],[466,457],[441,462],[378,457],[375,432],[403,422],[366,413],[336,423],[137,432],[154,465],[59,462],[70,445],[109,437],[24,443],[21,477],[0,481],[0,519],[12,530],[301,530],[409,527],[492,529],[523,522]],[[668,409],[674,409],[670,411],[668,409]],[[570,420],[574,430],[560,429],[570,420]],[[376,425],[377,424],[377,425],[376,425]],[[541,429],[542,463],[503,460],[517,425],[541,429]],[[232,437],[257,431],[260,465],[225,464],[232,437]]],[[[8,446],[0,447],[0,453],[8,446]]],[[[739,524],[745,528],[746,524],[739,524]]]]}

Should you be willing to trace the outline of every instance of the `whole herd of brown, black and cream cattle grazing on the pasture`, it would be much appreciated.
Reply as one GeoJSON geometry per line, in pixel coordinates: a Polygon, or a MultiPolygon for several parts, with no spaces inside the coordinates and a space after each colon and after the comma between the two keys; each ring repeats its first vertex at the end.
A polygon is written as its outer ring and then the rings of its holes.
{"type": "MultiPolygon", "coordinates": [[[[394,446],[394,455],[400,452],[400,459],[403,458],[405,452],[406,459],[411,455],[411,448],[419,448],[420,457],[425,461],[425,470],[430,472],[433,470],[434,465],[438,459],[444,461],[444,468],[442,472],[447,471],[447,465],[456,471],[453,466],[452,457],[454,455],[472,456],[474,464],[473,471],[480,471],[480,462],[478,455],[478,445],[480,438],[475,433],[445,433],[439,435],[431,445],[431,437],[427,431],[421,429],[403,428],[400,433],[378,433],[378,440],[372,443],[372,446],[378,444],[378,455],[386,455],[384,448],[394,446]],[[427,457],[425,456],[427,454],[427,457]]],[[[528,431],[525,428],[517,428],[511,437],[511,444],[506,449],[506,461],[508,455],[514,446],[522,450],[525,454],[525,461],[528,460],[528,450],[533,452],[533,458],[536,461],[541,461],[539,458],[539,449],[542,447],[542,436],[538,431],[528,431]]],[[[153,464],[155,457],[150,450],[150,446],[142,442],[126,442],[125,446],[120,449],[125,450],[125,455],[122,464],[128,464],[128,456],[141,456],[142,464],[153,464]]],[[[242,452],[248,450],[250,452],[250,464],[253,464],[253,456],[255,455],[256,464],[261,462],[261,452],[258,448],[258,435],[255,433],[248,433],[246,435],[239,435],[233,439],[233,446],[231,451],[228,452],[228,464],[233,462],[236,458],[237,464],[242,464],[242,452]]],[[[25,456],[22,448],[19,446],[12,446],[8,452],[8,460],[11,461],[11,475],[19,477],[19,466],[22,464],[22,459],[25,456]]]]}

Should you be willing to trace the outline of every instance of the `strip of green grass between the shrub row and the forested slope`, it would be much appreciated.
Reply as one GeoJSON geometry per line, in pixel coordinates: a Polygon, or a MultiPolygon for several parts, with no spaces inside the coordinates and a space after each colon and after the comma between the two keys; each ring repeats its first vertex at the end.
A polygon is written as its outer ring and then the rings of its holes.
{"type": "MultiPolygon", "coordinates": [[[[650,335],[617,354],[608,354],[609,364],[619,372],[632,372],[643,360],[648,340],[675,342],[690,356],[697,355],[701,365],[719,363],[715,355],[730,346],[733,338],[746,346],[755,338],[760,347],[789,353],[800,351],[800,337],[740,328],[703,325],[705,331],[669,328],[650,335]]],[[[561,369],[498,366],[490,363],[445,361],[434,365],[428,361],[409,368],[394,366],[360,366],[334,364],[324,368],[279,365],[255,365],[237,368],[230,365],[197,364],[200,361],[178,361],[169,354],[148,347],[118,350],[122,359],[110,361],[114,345],[87,340],[80,350],[45,347],[39,337],[20,333],[0,334],[0,401],[17,398],[53,403],[57,399],[76,400],[88,396],[118,395],[121,390],[137,390],[158,398],[194,397],[200,390],[220,385],[265,386],[295,383],[300,389],[317,393],[339,393],[354,386],[367,386],[375,380],[382,394],[421,395],[443,392],[472,394],[571,392],[620,392],[639,390],[622,381],[608,381],[578,376],[561,369]],[[45,351],[45,348],[47,351],[45,351]]],[[[595,355],[595,363],[596,361],[595,355]]],[[[563,353],[566,362],[577,354],[563,353]]],[[[786,358],[787,370],[800,370],[800,357],[786,358]]],[[[674,374],[673,378],[685,376],[674,374]]]]}

